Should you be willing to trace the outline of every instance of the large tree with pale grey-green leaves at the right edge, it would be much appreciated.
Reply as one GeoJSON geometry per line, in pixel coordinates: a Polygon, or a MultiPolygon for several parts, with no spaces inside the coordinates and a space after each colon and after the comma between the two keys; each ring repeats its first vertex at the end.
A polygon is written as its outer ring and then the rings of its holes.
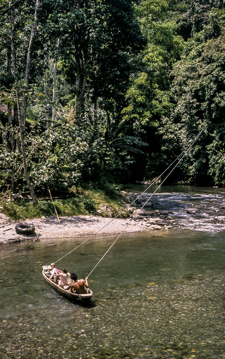
{"type": "MultiPolygon", "coordinates": [[[[209,5],[209,2],[208,2],[209,5]]],[[[207,24],[186,44],[181,61],[174,65],[173,112],[164,119],[162,157],[187,148],[204,126],[178,173],[181,181],[197,185],[224,182],[225,130],[225,11],[209,8],[207,24]]],[[[200,26],[200,24],[199,24],[200,26]]]]}

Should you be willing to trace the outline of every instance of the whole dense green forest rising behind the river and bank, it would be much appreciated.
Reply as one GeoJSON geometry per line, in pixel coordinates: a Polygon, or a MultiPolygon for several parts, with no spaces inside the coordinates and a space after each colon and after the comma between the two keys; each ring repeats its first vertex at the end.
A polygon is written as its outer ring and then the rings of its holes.
{"type": "Polygon", "coordinates": [[[30,178],[110,195],[160,175],[202,128],[168,180],[224,184],[222,0],[38,1],[0,8],[3,191],[30,178]]]}

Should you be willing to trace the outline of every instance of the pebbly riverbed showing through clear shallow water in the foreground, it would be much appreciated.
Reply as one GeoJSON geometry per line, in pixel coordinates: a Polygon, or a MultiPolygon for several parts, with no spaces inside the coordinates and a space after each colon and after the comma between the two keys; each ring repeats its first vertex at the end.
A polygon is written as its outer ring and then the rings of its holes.
{"type": "Polygon", "coordinates": [[[224,359],[223,294],[221,274],[110,289],[86,307],[31,298],[3,318],[1,358],[224,359]]]}

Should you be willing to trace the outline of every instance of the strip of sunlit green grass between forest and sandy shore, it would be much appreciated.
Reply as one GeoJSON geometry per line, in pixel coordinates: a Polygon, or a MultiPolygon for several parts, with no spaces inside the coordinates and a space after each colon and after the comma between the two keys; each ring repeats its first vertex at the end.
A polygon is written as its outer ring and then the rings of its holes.
{"type": "MultiPolygon", "coordinates": [[[[70,198],[57,198],[54,204],[59,216],[74,215],[97,215],[100,208],[107,206],[115,217],[124,209],[124,199],[111,199],[102,191],[83,190],[80,194],[72,195],[70,198]]],[[[25,221],[28,218],[41,218],[56,215],[53,203],[50,200],[38,201],[37,206],[33,206],[32,201],[16,200],[13,201],[10,196],[7,198],[0,195],[0,213],[4,213],[12,220],[25,221]]],[[[107,211],[102,212],[106,216],[107,211]]],[[[129,214],[124,211],[121,217],[127,217],[129,214]]]]}

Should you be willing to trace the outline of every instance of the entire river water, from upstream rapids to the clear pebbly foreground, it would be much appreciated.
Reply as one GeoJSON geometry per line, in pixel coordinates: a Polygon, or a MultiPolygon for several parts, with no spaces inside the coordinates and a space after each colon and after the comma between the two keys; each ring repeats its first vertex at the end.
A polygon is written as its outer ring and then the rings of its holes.
{"type": "MultiPolygon", "coordinates": [[[[88,305],[65,300],[41,275],[84,238],[2,245],[0,358],[225,358],[224,193],[162,186],[150,211],[177,225],[123,234],[89,277],[88,305]]],[[[85,277],[115,239],[94,237],[57,267],[85,277]]]]}

